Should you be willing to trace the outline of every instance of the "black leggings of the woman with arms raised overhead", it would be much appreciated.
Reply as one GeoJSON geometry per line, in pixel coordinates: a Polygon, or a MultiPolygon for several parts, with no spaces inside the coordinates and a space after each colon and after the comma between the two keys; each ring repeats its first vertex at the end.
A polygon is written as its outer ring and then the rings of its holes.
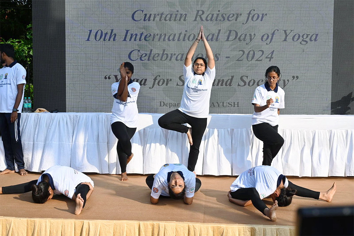
{"type": "Polygon", "coordinates": [[[188,127],[182,124],[188,123],[192,126],[192,140],[193,145],[190,146],[188,156],[188,169],[194,171],[198,160],[199,146],[206,129],[207,118],[196,118],[184,114],[182,111],[176,109],[166,113],[159,118],[159,126],[164,129],[174,130],[180,133],[187,133],[188,127]]]}

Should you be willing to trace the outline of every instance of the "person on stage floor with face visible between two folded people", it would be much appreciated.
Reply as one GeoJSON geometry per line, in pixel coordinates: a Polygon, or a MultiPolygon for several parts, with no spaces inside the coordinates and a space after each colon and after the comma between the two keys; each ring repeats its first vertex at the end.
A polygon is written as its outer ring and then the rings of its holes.
{"type": "Polygon", "coordinates": [[[160,195],[173,199],[182,199],[185,204],[192,204],[194,193],[201,186],[200,179],[182,164],[165,164],[157,174],[149,175],[146,184],[151,189],[150,202],[159,202],[160,195]]]}

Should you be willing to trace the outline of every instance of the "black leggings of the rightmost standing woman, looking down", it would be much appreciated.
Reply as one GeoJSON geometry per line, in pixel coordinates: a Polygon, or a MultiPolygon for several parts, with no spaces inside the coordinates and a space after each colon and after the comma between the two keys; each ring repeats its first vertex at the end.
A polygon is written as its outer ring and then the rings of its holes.
{"type": "Polygon", "coordinates": [[[284,144],[284,139],[278,133],[278,125],[271,126],[268,123],[252,125],[253,133],[263,142],[262,165],[270,166],[276,154],[284,144]]]}

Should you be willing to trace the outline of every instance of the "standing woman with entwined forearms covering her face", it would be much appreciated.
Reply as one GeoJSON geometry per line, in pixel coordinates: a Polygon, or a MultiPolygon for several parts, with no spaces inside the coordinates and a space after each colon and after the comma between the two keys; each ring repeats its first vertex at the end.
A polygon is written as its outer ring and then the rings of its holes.
{"type": "Polygon", "coordinates": [[[112,132],[118,138],[117,153],[122,172],[121,181],[128,180],[126,167],[133,157],[130,139],[138,125],[136,100],[140,85],[131,80],[133,73],[134,67],[130,62],[122,63],[120,66],[121,80],[112,85],[114,103],[110,121],[112,132]]]}

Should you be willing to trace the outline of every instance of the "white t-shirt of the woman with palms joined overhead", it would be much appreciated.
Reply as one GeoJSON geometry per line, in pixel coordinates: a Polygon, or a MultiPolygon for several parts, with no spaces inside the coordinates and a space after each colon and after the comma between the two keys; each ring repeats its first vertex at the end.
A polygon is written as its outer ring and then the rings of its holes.
{"type": "Polygon", "coordinates": [[[215,67],[206,68],[204,75],[194,74],[193,64],[183,65],[184,90],[181,107],[178,110],[197,117],[207,118],[209,115],[210,93],[215,79],[215,67]]]}

